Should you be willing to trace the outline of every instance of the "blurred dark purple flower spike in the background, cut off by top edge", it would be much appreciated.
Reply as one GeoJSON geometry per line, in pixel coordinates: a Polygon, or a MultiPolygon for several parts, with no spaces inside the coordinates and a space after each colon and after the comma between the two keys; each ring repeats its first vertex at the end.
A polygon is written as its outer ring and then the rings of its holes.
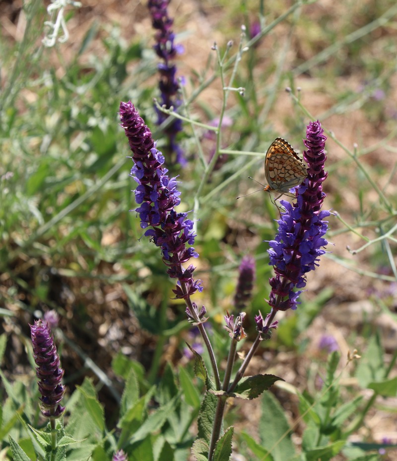
{"type": "MultiPolygon", "coordinates": [[[[167,109],[173,107],[178,108],[181,105],[181,100],[178,97],[179,82],[176,78],[176,65],[171,64],[171,60],[174,59],[178,54],[183,52],[181,45],[175,45],[175,34],[172,32],[173,19],[168,15],[168,4],[169,0],[149,0],[148,7],[150,15],[152,17],[152,26],[157,30],[154,45],[154,50],[157,56],[163,60],[158,65],[160,73],[159,88],[161,91],[161,105],[167,109]]],[[[158,120],[157,123],[160,125],[166,118],[167,115],[156,109],[158,120]]],[[[176,155],[175,161],[181,165],[186,164],[183,150],[176,142],[178,133],[182,131],[182,120],[174,118],[172,122],[165,129],[165,133],[168,137],[169,150],[174,152],[176,155]]]]}

